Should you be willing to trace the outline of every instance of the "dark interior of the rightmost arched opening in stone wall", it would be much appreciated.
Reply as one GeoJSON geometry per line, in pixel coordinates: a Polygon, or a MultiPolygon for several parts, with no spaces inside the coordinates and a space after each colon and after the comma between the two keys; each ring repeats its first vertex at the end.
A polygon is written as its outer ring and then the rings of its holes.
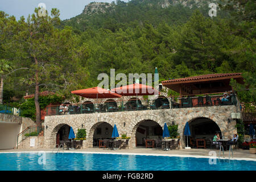
{"type": "MultiPolygon", "coordinates": [[[[200,148],[205,146],[210,148],[211,140],[216,133],[220,134],[220,138],[222,137],[220,127],[209,118],[200,117],[193,119],[189,122],[189,129],[191,131],[191,136],[188,137],[189,147],[200,148]]],[[[184,137],[184,140],[187,146],[187,137],[184,137]]]]}

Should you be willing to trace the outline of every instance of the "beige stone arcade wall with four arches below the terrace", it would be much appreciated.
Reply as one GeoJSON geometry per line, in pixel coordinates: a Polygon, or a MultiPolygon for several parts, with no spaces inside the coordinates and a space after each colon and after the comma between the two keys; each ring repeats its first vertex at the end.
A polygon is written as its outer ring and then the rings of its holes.
{"type": "Polygon", "coordinates": [[[231,113],[236,112],[236,106],[209,106],[209,107],[189,107],[180,109],[162,109],[162,110],[142,110],[142,111],[123,111],[114,113],[92,113],[75,115],[52,115],[47,116],[44,125],[47,129],[44,131],[45,147],[52,148],[56,144],[57,131],[63,125],[69,125],[73,128],[75,134],[78,129],[86,129],[86,147],[92,147],[93,134],[97,126],[103,122],[109,123],[112,127],[117,125],[119,135],[127,134],[131,137],[130,147],[135,147],[135,134],[137,127],[142,121],[152,120],[161,127],[164,123],[171,125],[172,122],[178,126],[178,132],[181,138],[181,144],[184,147],[185,137],[183,136],[186,122],[193,119],[204,117],[214,121],[220,127],[222,136],[232,137],[236,130],[236,121],[231,118],[231,113]]]}

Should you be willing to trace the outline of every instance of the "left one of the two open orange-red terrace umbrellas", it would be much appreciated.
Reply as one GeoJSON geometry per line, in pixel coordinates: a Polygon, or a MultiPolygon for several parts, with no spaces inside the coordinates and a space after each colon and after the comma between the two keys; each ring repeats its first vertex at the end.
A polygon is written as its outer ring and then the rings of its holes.
{"type": "Polygon", "coordinates": [[[89,88],[89,89],[81,89],[81,90],[74,90],[71,93],[76,94],[78,96],[86,97],[86,98],[117,98],[122,97],[121,95],[111,92],[106,89],[102,89],[98,86],[89,88]]]}

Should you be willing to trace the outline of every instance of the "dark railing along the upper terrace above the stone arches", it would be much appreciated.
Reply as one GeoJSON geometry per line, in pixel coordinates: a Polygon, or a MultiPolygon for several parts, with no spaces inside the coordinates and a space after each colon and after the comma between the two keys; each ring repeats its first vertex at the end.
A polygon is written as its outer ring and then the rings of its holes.
{"type": "MultiPolygon", "coordinates": [[[[156,100],[122,100],[103,102],[86,102],[84,104],[69,104],[66,109],[60,105],[47,106],[46,115],[108,113],[117,111],[175,109],[183,107],[200,107],[216,105],[236,105],[236,96],[230,96],[230,101],[221,102],[221,95],[203,97],[159,97],[156,100]]],[[[65,106],[65,105],[64,105],[65,106]]]]}

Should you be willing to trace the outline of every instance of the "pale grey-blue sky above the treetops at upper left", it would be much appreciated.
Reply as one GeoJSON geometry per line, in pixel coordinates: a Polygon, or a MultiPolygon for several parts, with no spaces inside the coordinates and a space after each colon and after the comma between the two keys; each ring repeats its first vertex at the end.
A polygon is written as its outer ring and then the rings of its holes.
{"type": "MultiPolygon", "coordinates": [[[[0,0],[0,11],[14,15],[18,20],[20,16],[27,19],[28,14],[33,14],[39,3],[46,5],[46,10],[52,8],[60,10],[60,19],[69,19],[82,13],[85,5],[90,2],[113,2],[114,0],[0,0]]],[[[128,0],[122,0],[127,2],[128,0]]]]}

